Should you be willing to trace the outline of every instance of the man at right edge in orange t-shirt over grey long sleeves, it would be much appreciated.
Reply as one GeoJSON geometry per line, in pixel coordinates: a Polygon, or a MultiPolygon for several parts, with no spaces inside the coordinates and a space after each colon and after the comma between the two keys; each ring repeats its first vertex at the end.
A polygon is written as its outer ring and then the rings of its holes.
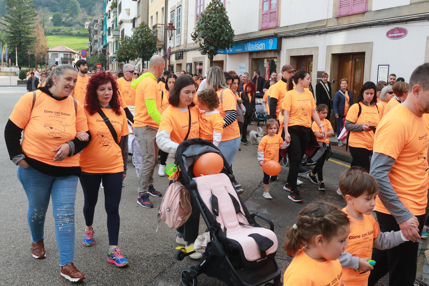
{"type": "Polygon", "coordinates": [[[429,63],[414,69],[408,89],[411,95],[383,117],[375,132],[370,174],[380,186],[375,205],[378,223],[382,232],[400,229],[410,241],[389,250],[374,249],[372,259],[377,264],[368,285],[387,272],[391,286],[413,285],[416,277],[429,170],[429,131],[423,118],[429,113],[427,78],[429,63]]]}

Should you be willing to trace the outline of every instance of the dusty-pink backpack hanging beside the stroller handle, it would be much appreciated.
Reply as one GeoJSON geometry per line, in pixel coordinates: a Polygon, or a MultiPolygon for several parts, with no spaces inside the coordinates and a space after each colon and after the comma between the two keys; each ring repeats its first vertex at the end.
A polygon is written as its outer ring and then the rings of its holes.
{"type": "Polygon", "coordinates": [[[157,216],[158,227],[162,220],[169,228],[177,229],[189,218],[191,212],[190,194],[179,181],[176,181],[169,185],[161,202],[157,216]]]}

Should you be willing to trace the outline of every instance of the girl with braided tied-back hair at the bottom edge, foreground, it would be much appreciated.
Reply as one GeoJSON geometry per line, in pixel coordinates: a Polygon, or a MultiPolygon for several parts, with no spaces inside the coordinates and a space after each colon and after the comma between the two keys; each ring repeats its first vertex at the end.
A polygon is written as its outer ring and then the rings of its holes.
{"type": "Polygon", "coordinates": [[[346,214],[328,202],[303,208],[287,229],[283,249],[293,256],[284,272],[284,286],[343,286],[338,257],[347,247],[350,222],[346,214]]]}

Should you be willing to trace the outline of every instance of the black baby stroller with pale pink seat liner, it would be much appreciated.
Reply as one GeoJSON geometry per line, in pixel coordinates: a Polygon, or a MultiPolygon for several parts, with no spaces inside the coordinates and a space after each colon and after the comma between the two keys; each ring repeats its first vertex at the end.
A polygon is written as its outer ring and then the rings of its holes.
{"type": "MultiPolygon", "coordinates": [[[[196,286],[201,273],[230,286],[280,285],[281,272],[274,259],[278,246],[274,225],[261,214],[249,213],[233,187],[233,172],[219,149],[209,141],[189,139],[178,146],[175,163],[180,168],[178,181],[189,191],[191,200],[195,199],[210,234],[199,264],[181,271],[183,286],[196,286]],[[192,179],[193,163],[208,152],[221,155],[222,172],[192,179]],[[254,217],[265,220],[270,229],[260,227],[254,217]]],[[[191,253],[178,250],[175,258],[182,260],[191,253]]]]}

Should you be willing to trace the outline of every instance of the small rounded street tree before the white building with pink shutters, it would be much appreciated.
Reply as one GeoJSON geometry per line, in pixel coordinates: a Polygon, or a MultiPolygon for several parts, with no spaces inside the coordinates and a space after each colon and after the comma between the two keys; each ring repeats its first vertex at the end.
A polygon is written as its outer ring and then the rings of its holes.
{"type": "Polygon", "coordinates": [[[208,55],[210,66],[213,66],[213,57],[218,50],[233,47],[234,30],[220,0],[213,0],[207,5],[191,37],[199,44],[201,54],[208,55]]]}

